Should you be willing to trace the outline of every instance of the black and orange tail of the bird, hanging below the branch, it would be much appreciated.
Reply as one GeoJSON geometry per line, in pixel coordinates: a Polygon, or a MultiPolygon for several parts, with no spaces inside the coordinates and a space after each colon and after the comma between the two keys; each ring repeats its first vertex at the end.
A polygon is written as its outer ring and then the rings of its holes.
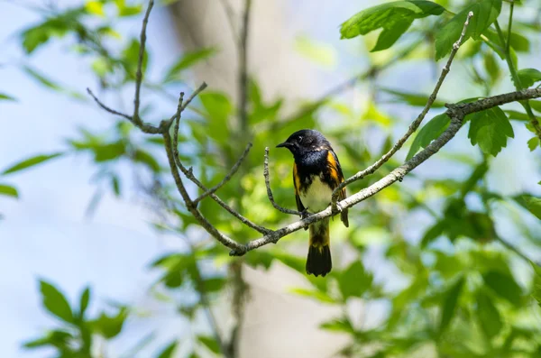
{"type": "Polygon", "coordinates": [[[329,239],[329,219],[326,218],[310,227],[310,247],[307,257],[307,274],[325,276],[333,268],[329,239]]]}

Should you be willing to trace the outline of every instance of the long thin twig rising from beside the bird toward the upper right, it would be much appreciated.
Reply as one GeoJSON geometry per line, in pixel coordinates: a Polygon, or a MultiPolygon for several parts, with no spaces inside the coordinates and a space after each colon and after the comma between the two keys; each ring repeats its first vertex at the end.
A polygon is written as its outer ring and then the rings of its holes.
{"type": "Polygon", "coordinates": [[[378,161],[373,163],[370,167],[368,167],[365,170],[357,172],[355,175],[353,175],[353,177],[344,180],[338,187],[335,188],[335,191],[333,191],[333,197],[332,197],[332,200],[331,200],[331,204],[332,204],[332,207],[333,207],[334,211],[337,211],[339,209],[336,206],[336,202],[337,202],[338,197],[339,197],[340,193],[342,192],[343,188],[350,185],[354,181],[360,180],[360,179],[366,177],[367,175],[372,174],[376,170],[380,169],[380,167],[385,162],[389,161],[390,158],[397,151],[399,151],[400,148],[402,148],[402,145],[404,145],[404,143],[406,141],[408,141],[408,138],[411,136],[411,134],[413,134],[413,133],[415,133],[415,131],[417,131],[418,126],[421,124],[421,122],[423,122],[423,119],[425,119],[425,116],[428,113],[428,111],[430,110],[430,107],[432,106],[434,101],[436,101],[437,93],[439,92],[440,87],[444,83],[445,77],[447,76],[447,74],[449,73],[449,70],[451,69],[451,64],[453,63],[454,55],[456,54],[456,51],[458,51],[458,49],[462,45],[463,39],[464,39],[464,37],[466,35],[466,29],[467,29],[468,25],[470,24],[470,19],[472,18],[472,16],[473,16],[473,13],[470,12],[468,14],[468,16],[466,17],[466,21],[465,21],[465,23],[463,25],[463,31],[462,31],[458,41],[454,42],[453,50],[451,50],[451,54],[449,55],[449,60],[447,60],[447,63],[445,64],[444,69],[442,69],[442,74],[440,75],[440,78],[437,80],[436,87],[434,87],[434,91],[432,91],[432,94],[428,97],[428,101],[426,102],[426,105],[423,108],[423,111],[417,116],[416,120],[413,121],[413,123],[409,125],[408,132],[406,132],[399,139],[399,141],[396,142],[395,145],[393,145],[393,147],[390,149],[390,151],[385,153],[385,155],[383,155],[378,161]]]}

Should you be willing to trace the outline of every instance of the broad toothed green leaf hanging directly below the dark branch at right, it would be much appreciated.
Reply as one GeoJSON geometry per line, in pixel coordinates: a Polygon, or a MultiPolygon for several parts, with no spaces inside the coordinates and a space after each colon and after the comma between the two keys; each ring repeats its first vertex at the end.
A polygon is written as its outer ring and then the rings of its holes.
{"type": "Polygon", "coordinates": [[[468,138],[472,145],[479,144],[481,151],[498,155],[507,146],[507,138],[514,138],[513,127],[500,107],[493,107],[472,115],[468,138]]]}

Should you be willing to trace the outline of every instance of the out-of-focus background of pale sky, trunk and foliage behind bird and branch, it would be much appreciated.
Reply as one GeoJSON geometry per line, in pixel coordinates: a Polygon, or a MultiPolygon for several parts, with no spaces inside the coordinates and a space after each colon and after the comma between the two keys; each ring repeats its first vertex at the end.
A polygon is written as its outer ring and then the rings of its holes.
{"type": "MultiPolygon", "coordinates": [[[[180,91],[189,96],[206,81],[182,115],[180,158],[211,187],[253,142],[217,195],[279,228],[297,218],[266,197],[264,147],[275,198],[294,208],[292,158],[276,144],[317,129],[352,176],[425,105],[447,59],[435,60],[446,23],[463,23],[455,17],[477,6],[499,14],[508,38],[507,1],[435,3],[445,12],[416,15],[390,49],[370,51],[379,31],[341,40],[341,24],[377,1],[156,1],[142,117],[159,124],[180,91]]],[[[541,68],[541,5],[513,6],[507,51],[495,23],[464,43],[425,124],[445,102],[514,91],[508,57],[518,69],[541,68]]],[[[133,112],[146,7],[0,2],[3,356],[541,356],[541,149],[523,106],[502,106],[513,133],[505,145],[472,146],[463,128],[403,182],[351,209],[348,229],[333,221],[334,270],[325,279],[304,271],[304,230],[229,257],[183,207],[160,136],[86,93],[133,112]]],[[[539,102],[530,103],[539,117],[539,102]]],[[[421,131],[425,142],[410,139],[349,193],[438,135],[421,131]]],[[[261,236],[210,197],[200,210],[236,241],[261,236]]]]}

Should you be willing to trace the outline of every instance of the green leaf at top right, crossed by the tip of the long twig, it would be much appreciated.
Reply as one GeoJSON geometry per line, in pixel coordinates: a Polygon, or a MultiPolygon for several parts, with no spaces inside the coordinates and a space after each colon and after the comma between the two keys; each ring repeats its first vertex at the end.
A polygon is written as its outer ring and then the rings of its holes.
{"type": "Polygon", "coordinates": [[[436,33],[436,60],[440,60],[451,51],[454,42],[460,38],[466,17],[470,12],[473,12],[473,16],[463,41],[470,37],[475,40],[479,39],[482,32],[498,18],[500,11],[501,0],[480,0],[463,8],[436,33]]]}

